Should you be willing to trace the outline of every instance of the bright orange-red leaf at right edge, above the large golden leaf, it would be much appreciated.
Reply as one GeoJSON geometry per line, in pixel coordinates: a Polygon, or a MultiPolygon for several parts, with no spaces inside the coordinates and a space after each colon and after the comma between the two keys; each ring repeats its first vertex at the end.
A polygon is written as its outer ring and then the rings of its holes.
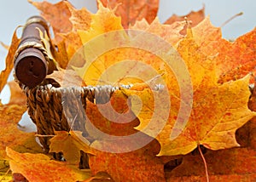
{"type": "MultiPolygon", "coordinates": [[[[250,72],[255,76],[256,28],[238,37],[233,43],[218,45],[219,82],[228,82],[244,77],[250,72]]],[[[217,45],[216,45],[217,47],[217,45]]]]}

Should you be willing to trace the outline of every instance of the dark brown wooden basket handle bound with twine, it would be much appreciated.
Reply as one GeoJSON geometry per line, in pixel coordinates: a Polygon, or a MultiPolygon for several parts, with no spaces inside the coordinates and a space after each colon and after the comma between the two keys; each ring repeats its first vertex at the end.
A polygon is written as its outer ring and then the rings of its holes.
{"type": "Polygon", "coordinates": [[[15,78],[29,88],[43,82],[48,73],[49,58],[38,29],[49,32],[47,22],[41,16],[26,20],[15,54],[15,78]]]}

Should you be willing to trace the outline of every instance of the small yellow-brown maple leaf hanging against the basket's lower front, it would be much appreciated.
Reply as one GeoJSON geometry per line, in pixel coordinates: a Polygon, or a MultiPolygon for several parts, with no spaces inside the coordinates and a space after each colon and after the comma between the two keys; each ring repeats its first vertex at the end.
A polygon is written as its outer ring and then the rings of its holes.
{"type": "Polygon", "coordinates": [[[63,152],[68,163],[79,164],[80,151],[93,154],[89,147],[89,141],[78,131],[55,131],[55,136],[51,139],[49,152],[63,152]]]}

